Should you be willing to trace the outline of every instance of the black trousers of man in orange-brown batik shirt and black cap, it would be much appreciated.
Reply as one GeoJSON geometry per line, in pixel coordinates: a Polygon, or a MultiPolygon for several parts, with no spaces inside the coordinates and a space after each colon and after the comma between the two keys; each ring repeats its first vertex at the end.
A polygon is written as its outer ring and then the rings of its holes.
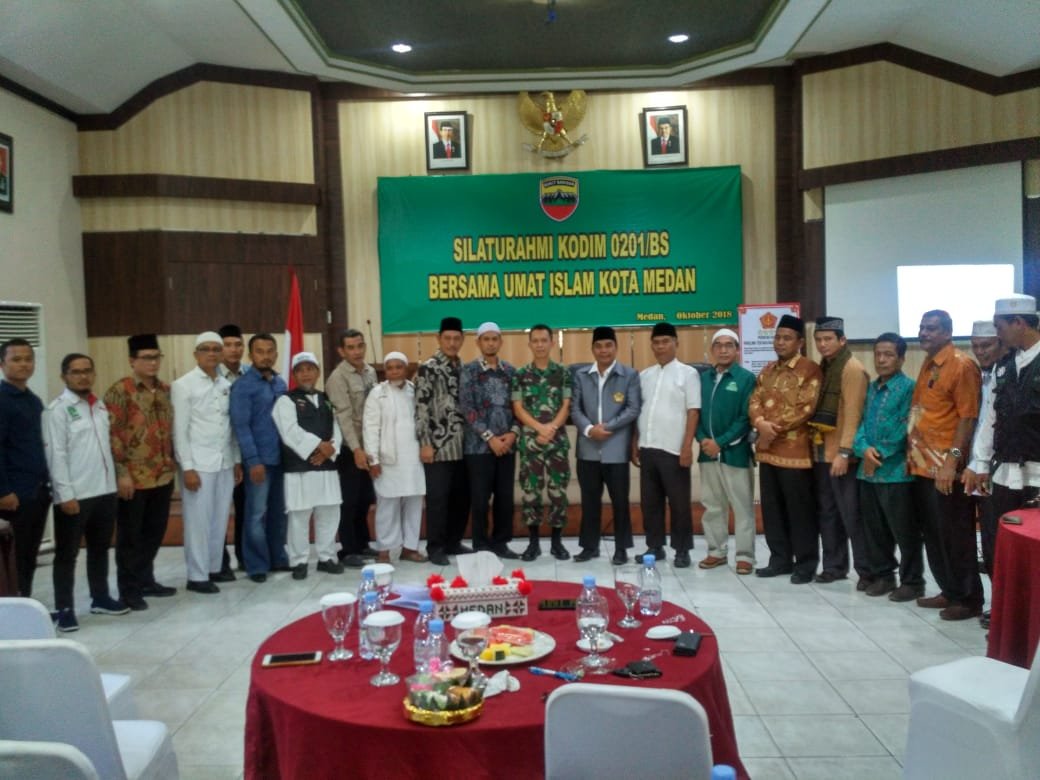
{"type": "Polygon", "coordinates": [[[820,563],[812,470],[763,463],[758,482],[770,568],[811,577],[820,563]]]}

